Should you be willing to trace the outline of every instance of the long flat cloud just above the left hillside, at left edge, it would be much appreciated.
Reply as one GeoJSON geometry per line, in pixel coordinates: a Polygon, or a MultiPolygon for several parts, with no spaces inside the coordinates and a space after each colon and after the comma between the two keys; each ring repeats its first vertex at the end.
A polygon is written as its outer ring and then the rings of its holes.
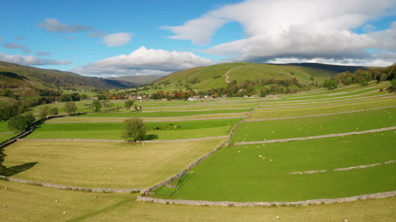
{"type": "Polygon", "coordinates": [[[0,53],[0,60],[25,66],[66,65],[71,63],[70,61],[66,60],[42,59],[36,56],[8,55],[5,53],[0,53]]]}

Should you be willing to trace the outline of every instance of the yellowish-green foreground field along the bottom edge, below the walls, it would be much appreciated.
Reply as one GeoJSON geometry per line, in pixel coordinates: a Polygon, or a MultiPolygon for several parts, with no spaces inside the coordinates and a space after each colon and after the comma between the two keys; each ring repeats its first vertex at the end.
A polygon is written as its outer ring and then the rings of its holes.
{"type": "Polygon", "coordinates": [[[396,197],[351,203],[307,205],[303,207],[206,207],[135,201],[137,194],[89,193],[59,190],[31,184],[0,181],[0,221],[2,222],[149,222],[162,220],[350,221],[388,222],[396,217],[396,197]],[[7,187],[8,190],[4,188],[7,187]],[[98,196],[97,199],[94,197],[98,196]],[[58,203],[55,203],[58,200],[58,203]],[[3,207],[8,205],[8,207],[3,207]],[[66,212],[63,214],[63,212],[66,212]]]}

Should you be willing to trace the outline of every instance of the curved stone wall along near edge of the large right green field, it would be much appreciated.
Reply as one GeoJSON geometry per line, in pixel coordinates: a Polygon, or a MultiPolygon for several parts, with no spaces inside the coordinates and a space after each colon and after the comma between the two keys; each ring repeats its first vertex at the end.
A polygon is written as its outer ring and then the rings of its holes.
{"type": "Polygon", "coordinates": [[[294,202],[233,202],[233,201],[204,201],[204,200],[184,200],[184,199],[158,199],[150,198],[147,196],[137,196],[137,201],[148,201],[155,203],[175,203],[175,204],[186,204],[186,205],[211,205],[211,206],[236,206],[236,207],[249,207],[249,206],[272,206],[276,205],[308,205],[308,204],[321,204],[323,203],[338,203],[338,202],[352,202],[362,199],[375,199],[375,198],[387,198],[396,196],[396,191],[382,192],[375,194],[363,194],[359,196],[353,196],[348,198],[333,198],[333,199],[311,199],[305,201],[294,201],[294,202]]]}

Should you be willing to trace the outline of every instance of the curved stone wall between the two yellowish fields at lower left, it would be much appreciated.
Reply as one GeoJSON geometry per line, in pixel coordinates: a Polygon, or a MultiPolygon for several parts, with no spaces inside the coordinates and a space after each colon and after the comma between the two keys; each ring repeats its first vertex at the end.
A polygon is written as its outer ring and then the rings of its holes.
{"type": "Polygon", "coordinates": [[[92,192],[129,193],[131,191],[145,192],[147,190],[147,188],[133,188],[133,189],[127,189],[127,188],[86,188],[86,187],[79,187],[79,186],[66,186],[66,185],[62,185],[62,184],[47,183],[47,182],[29,181],[29,180],[23,180],[23,179],[17,179],[17,178],[12,178],[12,177],[5,177],[5,176],[0,176],[0,177],[7,178],[8,180],[14,181],[14,182],[21,182],[21,183],[34,184],[34,185],[39,185],[39,186],[47,186],[47,187],[53,187],[53,188],[60,188],[60,189],[92,190],[92,192]]]}

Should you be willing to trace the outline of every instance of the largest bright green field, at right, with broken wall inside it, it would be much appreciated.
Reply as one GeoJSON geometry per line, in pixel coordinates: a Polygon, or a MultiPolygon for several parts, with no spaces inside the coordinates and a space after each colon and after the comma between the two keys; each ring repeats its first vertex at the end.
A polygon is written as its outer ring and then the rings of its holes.
{"type": "Polygon", "coordinates": [[[394,138],[394,130],[390,130],[345,138],[223,147],[194,167],[194,176],[171,199],[300,201],[396,190],[396,163],[333,171],[396,160],[394,138]],[[324,169],[327,172],[288,174],[324,169]]]}

